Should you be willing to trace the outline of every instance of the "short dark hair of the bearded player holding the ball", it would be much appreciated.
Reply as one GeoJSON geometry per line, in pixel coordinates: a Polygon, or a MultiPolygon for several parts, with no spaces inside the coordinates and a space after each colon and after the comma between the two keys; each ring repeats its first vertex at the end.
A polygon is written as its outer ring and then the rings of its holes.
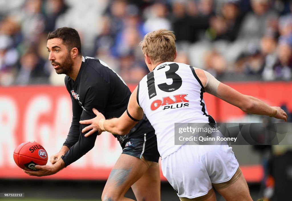
{"type": "Polygon", "coordinates": [[[75,29],[70,27],[58,28],[55,31],[52,31],[48,34],[47,40],[53,38],[62,39],[68,51],[76,47],[78,50],[78,55],[79,56],[82,55],[80,36],[78,34],[78,31],[76,31],[75,29]]]}

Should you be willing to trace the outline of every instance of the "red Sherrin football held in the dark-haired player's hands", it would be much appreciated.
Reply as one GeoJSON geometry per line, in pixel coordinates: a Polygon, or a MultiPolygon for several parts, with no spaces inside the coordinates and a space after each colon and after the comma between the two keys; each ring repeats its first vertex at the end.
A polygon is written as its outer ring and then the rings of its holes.
{"type": "Polygon", "coordinates": [[[24,142],[18,145],[13,153],[13,159],[20,168],[36,170],[35,165],[46,165],[48,154],[43,146],[35,141],[24,142]]]}

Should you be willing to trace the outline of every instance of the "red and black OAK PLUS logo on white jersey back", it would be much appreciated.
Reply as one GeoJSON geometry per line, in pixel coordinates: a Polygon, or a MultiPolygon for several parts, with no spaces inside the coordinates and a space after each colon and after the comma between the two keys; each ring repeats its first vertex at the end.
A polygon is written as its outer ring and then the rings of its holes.
{"type": "Polygon", "coordinates": [[[187,94],[177,94],[177,95],[174,95],[173,98],[166,96],[166,97],[163,97],[162,100],[160,99],[154,100],[151,103],[150,108],[152,111],[154,111],[154,110],[157,110],[161,106],[163,106],[162,110],[188,107],[189,100],[187,100],[186,97],[187,97],[187,94]]]}

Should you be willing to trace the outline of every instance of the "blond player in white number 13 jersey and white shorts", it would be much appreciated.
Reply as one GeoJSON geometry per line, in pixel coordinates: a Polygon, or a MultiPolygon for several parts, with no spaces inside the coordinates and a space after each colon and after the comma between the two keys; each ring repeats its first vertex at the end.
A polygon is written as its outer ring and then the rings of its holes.
{"type": "Polygon", "coordinates": [[[133,91],[128,108],[119,118],[105,120],[96,109],[85,136],[99,131],[125,135],[142,119],[143,111],[155,129],[162,172],[180,200],[216,200],[213,186],[225,200],[252,200],[246,180],[228,145],[175,145],[174,123],[215,124],[205,107],[203,92],[213,94],[250,114],[268,115],[287,121],[280,107],[239,93],[210,73],[174,62],[175,36],[159,29],[140,43],[150,70],[133,91]]]}

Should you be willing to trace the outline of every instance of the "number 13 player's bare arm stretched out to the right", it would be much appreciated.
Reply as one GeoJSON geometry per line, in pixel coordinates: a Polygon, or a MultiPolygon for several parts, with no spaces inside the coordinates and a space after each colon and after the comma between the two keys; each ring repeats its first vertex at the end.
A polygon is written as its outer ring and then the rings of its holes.
{"type": "Polygon", "coordinates": [[[273,116],[277,119],[284,119],[287,121],[287,114],[280,107],[271,107],[260,99],[241,94],[235,89],[221,82],[219,83],[218,88],[214,90],[212,80],[215,78],[213,76],[208,75],[208,77],[210,77],[210,80],[208,80],[204,70],[196,69],[195,72],[201,80],[206,91],[210,90],[211,94],[226,101],[227,103],[239,107],[242,111],[250,114],[273,116]],[[210,82],[209,84],[212,86],[212,89],[208,89],[208,82],[210,82]]]}

